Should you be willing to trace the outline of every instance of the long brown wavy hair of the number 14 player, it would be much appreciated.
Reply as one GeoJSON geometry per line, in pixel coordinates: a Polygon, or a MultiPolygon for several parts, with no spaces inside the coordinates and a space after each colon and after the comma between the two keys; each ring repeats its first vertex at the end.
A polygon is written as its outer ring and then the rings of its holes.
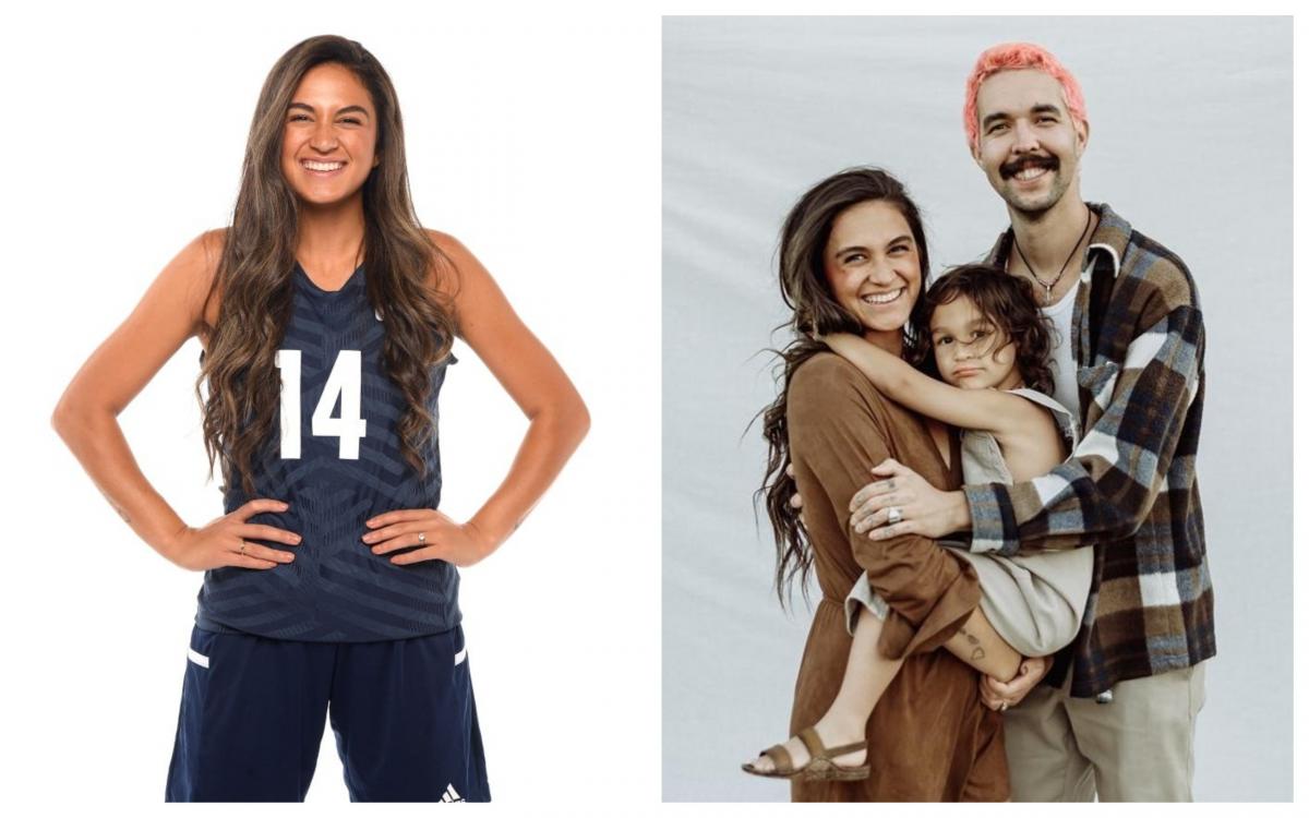
{"type": "Polygon", "coordinates": [[[221,293],[217,326],[195,383],[209,472],[217,459],[226,486],[240,479],[246,493],[254,492],[254,463],[271,442],[281,393],[274,355],[291,321],[300,205],[281,173],[284,118],[301,79],[323,63],[353,72],[377,110],[380,162],[363,188],[365,280],[368,300],[386,317],[386,372],[408,403],[399,421],[402,453],[419,475],[420,452],[435,429],[427,410],[431,368],[449,355],[457,331],[449,298],[427,283],[433,267],[441,276],[457,271],[414,212],[390,77],[355,41],[323,35],[296,44],[268,72],[255,105],[232,226],[206,300],[221,293]]]}

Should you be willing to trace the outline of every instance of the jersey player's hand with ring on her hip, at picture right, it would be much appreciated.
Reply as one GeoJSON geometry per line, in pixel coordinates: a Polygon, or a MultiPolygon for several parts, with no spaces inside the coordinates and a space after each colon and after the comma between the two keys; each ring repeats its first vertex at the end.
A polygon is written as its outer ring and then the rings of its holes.
{"type": "Polygon", "coordinates": [[[432,508],[399,509],[369,520],[372,529],[364,542],[373,554],[385,555],[399,548],[415,548],[391,558],[395,565],[424,560],[445,560],[465,568],[482,561],[496,543],[471,522],[454,522],[432,508]]]}

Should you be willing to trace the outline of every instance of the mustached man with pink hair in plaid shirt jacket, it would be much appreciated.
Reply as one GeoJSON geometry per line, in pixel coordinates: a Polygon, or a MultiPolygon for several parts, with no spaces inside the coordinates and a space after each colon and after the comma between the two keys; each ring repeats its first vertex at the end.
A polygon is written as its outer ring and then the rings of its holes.
{"type": "Polygon", "coordinates": [[[965,128],[1009,212],[988,260],[1046,305],[1058,330],[1055,398],[1080,412],[1083,437],[1052,472],[1016,486],[940,492],[888,461],[852,501],[856,527],[874,539],[971,531],[973,551],[1004,555],[1094,547],[1076,640],[1026,660],[1011,683],[982,681],[983,700],[1008,711],[1013,798],[1187,801],[1200,662],[1215,654],[1195,480],[1195,284],[1107,204],[1083,202],[1085,103],[1051,54],[1014,43],[983,52],[965,128]]]}

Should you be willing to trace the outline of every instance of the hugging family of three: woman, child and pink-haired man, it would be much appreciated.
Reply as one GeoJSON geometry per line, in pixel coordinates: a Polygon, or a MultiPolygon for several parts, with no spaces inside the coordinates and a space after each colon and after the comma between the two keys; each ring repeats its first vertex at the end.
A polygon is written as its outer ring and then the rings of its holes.
{"type": "Polygon", "coordinates": [[[1090,122],[1054,55],[995,46],[965,88],[1009,215],[977,263],[929,281],[877,168],[781,229],[761,496],[779,597],[821,599],[792,737],[742,767],[795,801],[1189,801],[1215,654],[1195,281],[1083,200],[1090,122]]]}

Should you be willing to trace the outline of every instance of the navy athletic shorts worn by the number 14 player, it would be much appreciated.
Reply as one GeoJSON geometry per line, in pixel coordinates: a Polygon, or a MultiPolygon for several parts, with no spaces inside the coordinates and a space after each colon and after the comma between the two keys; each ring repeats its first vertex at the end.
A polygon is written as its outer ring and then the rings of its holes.
{"type": "Polygon", "coordinates": [[[310,643],[194,628],[168,801],[304,801],[331,715],[351,801],[490,801],[463,630],[310,643]]]}

